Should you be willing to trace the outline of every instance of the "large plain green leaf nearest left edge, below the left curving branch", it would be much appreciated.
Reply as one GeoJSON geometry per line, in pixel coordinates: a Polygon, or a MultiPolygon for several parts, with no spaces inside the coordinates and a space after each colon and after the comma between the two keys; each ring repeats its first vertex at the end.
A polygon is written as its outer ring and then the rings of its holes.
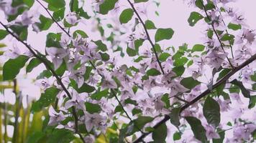
{"type": "Polygon", "coordinates": [[[12,80],[15,79],[17,74],[19,74],[20,69],[24,67],[27,60],[27,56],[21,55],[16,59],[9,59],[4,63],[3,66],[3,80],[12,80]]]}

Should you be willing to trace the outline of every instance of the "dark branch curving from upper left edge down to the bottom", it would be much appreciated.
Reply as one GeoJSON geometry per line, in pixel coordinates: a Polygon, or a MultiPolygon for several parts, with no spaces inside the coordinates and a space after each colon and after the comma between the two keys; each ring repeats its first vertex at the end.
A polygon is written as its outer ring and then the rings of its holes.
{"type": "MultiPolygon", "coordinates": [[[[68,89],[66,89],[65,85],[64,85],[63,82],[61,81],[60,77],[58,77],[58,74],[56,74],[55,70],[52,69],[52,67],[51,67],[49,64],[47,64],[47,62],[46,62],[41,56],[37,55],[37,53],[32,49],[31,46],[29,46],[25,41],[22,41],[22,39],[19,39],[19,37],[16,36],[12,31],[10,31],[9,28],[8,28],[6,25],[4,25],[1,21],[0,21],[0,24],[1,24],[2,26],[4,26],[4,29],[6,29],[6,31],[7,31],[9,34],[11,34],[15,39],[17,39],[17,40],[20,41],[22,44],[24,44],[24,46],[26,46],[27,49],[29,49],[29,51],[32,53],[32,55],[35,56],[37,59],[39,59],[39,60],[42,62],[42,64],[45,65],[46,69],[49,69],[49,70],[51,71],[53,77],[56,78],[58,84],[60,84],[60,87],[63,88],[63,90],[64,90],[64,92],[67,94],[68,98],[69,98],[69,99],[72,99],[71,94],[68,92],[68,89]]],[[[76,114],[76,109],[75,109],[75,107],[72,107],[72,114],[73,114],[73,117],[75,118],[75,131],[76,131],[76,133],[78,133],[78,115],[76,114]]],[[[80,133],[78,133],[78,134],[79,134],[79,136],[81,137],[82,141],[85,143],[85,141],[83,140],[83,137],[81,136],[81,134],[80,134],[80,133]]]]}

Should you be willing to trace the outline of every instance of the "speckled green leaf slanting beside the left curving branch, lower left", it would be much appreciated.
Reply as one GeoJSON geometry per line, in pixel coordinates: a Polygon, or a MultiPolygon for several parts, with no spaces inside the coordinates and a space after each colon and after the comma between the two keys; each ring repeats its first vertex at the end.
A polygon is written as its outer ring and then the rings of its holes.
{"type": "Polygon", "coordinates": [[[37,102],[32,104],[31,110],[32,112],[40,112],[40,110],[43,107],[48,107],[50,104],[52,104],[57,94],[60,92],[60,89],[57,89],[55,87],[50,87],[48,89],[45,89],[45,93],[41,94],[41,97],[37,102]]]}

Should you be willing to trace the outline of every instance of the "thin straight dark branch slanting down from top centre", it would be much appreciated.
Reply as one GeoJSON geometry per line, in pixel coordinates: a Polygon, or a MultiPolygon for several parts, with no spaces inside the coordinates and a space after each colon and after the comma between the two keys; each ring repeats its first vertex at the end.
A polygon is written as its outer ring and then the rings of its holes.
{"type": "Polygon", "coordinates": [[[134,5],[132,4],[132,2],[131,2],[130,0],[127,0],[127,1],[129,2],[129,5],[132,6],[132,9],[133,9],[134,13],[137,15],[137,17],[138,17],[140,23],[142,24],[142,26],[143,26],[143,28],[144,28],[144,30],[145,30],[145,33],[146,33],[146,35],[147,35],[147,40],[150,41],[150,44],[151,44],[152,49],[153,49],[153,51],[154,51],[154,53],[155,53],[155,57],[156,57],[156,59],[157,59],[157,63],[158,63],[159,66],[160,66],[160,69],[161,69],[161,71],[162,71],[162,74],[165,74],[165,71],[163,70],[163,66],[162,66],[162,64],[161,64],[161,62],[160,62],[160,60],[159,60],[158,55],[157,55],[157,51],[156,51],[156,49],[155,49],[155,44],[153,44],[152,40],[150,39],[150,34],[149,34],[148,31],[147,31],[147,28],[146,28],[146,25],[145,25],[144,21],[142,21],[142,18],[141,18],[140,15],[138,14],[137,10],[134,8],[134,5]]]}

